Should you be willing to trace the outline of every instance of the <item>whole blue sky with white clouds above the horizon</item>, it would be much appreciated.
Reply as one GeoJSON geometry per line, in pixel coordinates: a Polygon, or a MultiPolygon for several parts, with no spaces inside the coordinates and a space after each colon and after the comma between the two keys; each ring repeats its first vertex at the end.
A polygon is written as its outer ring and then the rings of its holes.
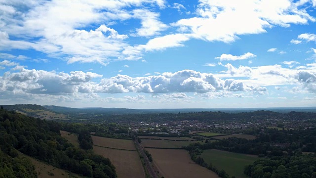
{"type": "Polygon", "coordinates": [[[316,106],[316,0],[0,0],[0,104],[316,106]]]}

